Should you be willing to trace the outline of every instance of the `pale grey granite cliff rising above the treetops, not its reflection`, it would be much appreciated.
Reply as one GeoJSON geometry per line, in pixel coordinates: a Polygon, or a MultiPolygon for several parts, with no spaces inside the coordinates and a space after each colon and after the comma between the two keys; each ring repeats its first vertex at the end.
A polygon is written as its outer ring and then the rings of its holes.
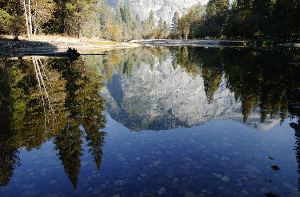
{"type": "MultiPolygon", "coordinates": [[[[205,5],[208,0],[199,0],[202,5],[205,5]]],[[[187,13],[187,9],[198,3],[198,0],[107,0],[107,4],[111,7],[120,7],[126,3],[133,15],[139,13],[141,20],[149,17],[149,12],[152,9],[155,13],[156,24],[161,17],[163,21],[172,23],[174,13],[178,11],[179,16],[187,13]]]]}

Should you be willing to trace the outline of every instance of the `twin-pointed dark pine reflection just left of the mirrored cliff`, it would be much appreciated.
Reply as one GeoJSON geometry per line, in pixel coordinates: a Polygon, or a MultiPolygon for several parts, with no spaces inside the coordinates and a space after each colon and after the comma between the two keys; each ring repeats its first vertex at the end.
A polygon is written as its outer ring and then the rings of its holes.
{"type": "MultiPolygon", "coordinates": [[[[82,62],[84,63],[84,62],[82,62]]],[[[104,87],[97,69],[91,65],[73,63],[64,71],[67,79],[66,89],[68,97],[65,108],[68,111],[67,125],[62,133],[55,138],[55,150],[59,150],[58,157],[62,160],[65,173],[68,175],[74,188],[77,186],[79,169],[81,167],[82,137],[83,131],[79,129],[82,125],[86,133],[86,140],[90,147],[89,152],[100,169],[102,162],[102,146],[106,132],[100,132],[105,127],[106,116],[104,111],[104,100],[98,92],[104,87]],[[75,82],[75,83],[74,83],[75,82]]]]}

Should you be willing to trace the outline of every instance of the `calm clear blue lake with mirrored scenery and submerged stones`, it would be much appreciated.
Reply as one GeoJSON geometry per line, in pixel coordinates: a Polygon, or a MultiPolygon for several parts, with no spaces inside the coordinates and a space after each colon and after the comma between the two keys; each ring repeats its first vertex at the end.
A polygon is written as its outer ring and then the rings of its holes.
{"type": "Polygon", "coordinates": [[[105,53],[0,58],[0,196],[300,196],[300,49],[105,53]]]}

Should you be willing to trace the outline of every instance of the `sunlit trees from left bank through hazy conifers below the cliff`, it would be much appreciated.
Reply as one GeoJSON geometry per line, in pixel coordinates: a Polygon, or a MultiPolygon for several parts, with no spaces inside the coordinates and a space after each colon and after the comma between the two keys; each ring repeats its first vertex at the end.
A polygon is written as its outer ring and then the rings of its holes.
{"type": "Polygon", "coordinates": [[[155,28],[153,10],[143,21],[126,4],[111,10],[107,0],[0,0],[0,34],[15,40],[24,32],[28,38],[43,33],[127,40],[161,38],[170,31],[162,19],[155,28]]]}

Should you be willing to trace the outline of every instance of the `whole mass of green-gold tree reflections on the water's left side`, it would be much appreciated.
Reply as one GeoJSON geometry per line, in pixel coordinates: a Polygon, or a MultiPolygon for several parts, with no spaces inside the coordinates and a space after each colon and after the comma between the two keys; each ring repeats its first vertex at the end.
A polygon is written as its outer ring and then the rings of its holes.
{"type": "Polygon", "coordinates": [[[58,58],[1,59],[1,186],[20,165],[18,148],[38,149],[52,138],[75,188],[82,137],[100,169],[107,134],[99,131],[106,116],[99,95],[104,83],[98,72],[84,59],[72,63],[58,58]]]}

